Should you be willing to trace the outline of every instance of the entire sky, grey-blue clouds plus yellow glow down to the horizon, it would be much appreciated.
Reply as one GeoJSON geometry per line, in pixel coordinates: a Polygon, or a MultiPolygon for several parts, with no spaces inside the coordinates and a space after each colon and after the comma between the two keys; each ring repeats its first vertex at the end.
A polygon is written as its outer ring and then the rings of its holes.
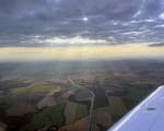
{"type": "Polygon", "coordinates": [[[0,0],[0,60],[162,56],[163,34],[164,0],[0,0]]]}

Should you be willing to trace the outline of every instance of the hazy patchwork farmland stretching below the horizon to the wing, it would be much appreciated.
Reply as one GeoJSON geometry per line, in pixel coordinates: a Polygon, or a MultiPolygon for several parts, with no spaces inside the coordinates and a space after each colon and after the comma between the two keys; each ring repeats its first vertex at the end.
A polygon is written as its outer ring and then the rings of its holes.
{"type": "Polygon", "coordinates": [[[105,131],[164,84],[161,60],[0,67],[0,127],[9,131],[105,131]]]}

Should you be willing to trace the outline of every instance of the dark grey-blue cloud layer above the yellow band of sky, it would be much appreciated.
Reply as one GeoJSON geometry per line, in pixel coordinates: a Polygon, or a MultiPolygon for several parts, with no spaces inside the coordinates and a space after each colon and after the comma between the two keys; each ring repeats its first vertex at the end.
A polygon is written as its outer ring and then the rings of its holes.
{"type": "Polygon", "coordinates": [[[164,0],[0,0],[0,46],[46,46],[36,36],[159,43],[163,7],[164,0]]]}

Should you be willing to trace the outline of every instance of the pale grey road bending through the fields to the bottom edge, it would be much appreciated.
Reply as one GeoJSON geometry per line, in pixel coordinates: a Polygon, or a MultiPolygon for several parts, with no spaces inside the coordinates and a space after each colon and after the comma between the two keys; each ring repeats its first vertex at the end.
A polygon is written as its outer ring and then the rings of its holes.
{"type": "MultiPolygon", "coordinates": [[[[81,86],[81,85],[74,83],[73,80],[71,80],[70,78],[69,78],[68,80],[69,80],[69,82],[70,82],[74,87],[84,90],[83,86],[81,86]]],[[[95,94],[94,94],[92,91],[87,90],[87,88],[85,88],[85,90],[89,91],[90,94],[91,94],[91,106],[90,106],[90,111],[89,111],[90,115],[89,115],[89,121],[87,121],[87,131],[92,131],[93,107],[94,107],[95,94]]]]}

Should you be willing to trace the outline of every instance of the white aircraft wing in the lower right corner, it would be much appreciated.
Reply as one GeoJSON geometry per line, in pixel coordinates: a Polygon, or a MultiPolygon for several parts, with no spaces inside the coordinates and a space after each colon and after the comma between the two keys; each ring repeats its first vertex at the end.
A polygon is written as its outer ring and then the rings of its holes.
{"type": "Polygon", "coordinates": [[[154,91],[108,131],[164,131],[164,86],[154,91]]]}

